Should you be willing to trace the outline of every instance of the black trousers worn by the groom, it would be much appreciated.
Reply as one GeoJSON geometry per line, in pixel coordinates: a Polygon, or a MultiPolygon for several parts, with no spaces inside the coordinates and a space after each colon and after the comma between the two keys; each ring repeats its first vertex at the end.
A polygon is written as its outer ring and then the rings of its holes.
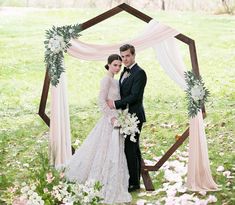
{"type": "MultiPolygon", "coordinates": [[[[143,123],[138,124],[138,128],[141,131],[143,123]]],[[[140,185],[140,174],[141,174],[141,152],[139,145],[140,134],[136,134],[136,142],[130,140],[130,136],[125,139],[125,154],[127,159],[127,166],[129,170],[129,186],[140,185]]]]}

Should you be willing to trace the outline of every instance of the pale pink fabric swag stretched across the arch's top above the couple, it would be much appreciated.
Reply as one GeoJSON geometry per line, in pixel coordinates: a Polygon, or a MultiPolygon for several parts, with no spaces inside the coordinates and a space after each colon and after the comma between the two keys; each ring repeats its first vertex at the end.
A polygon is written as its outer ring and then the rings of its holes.
{"type": "Polygon", "coordinates": [[[106,60],[110,54],[119,53],[119,47],[125,43],[134,45],[138,52],[177,34],[179,34],[178,31],[152,20],[135,39],[114,45],[88,44],[79,39],[72,39],[70,41],[72,46],[67,52],[73,57],[83,60],[106,60]]]}

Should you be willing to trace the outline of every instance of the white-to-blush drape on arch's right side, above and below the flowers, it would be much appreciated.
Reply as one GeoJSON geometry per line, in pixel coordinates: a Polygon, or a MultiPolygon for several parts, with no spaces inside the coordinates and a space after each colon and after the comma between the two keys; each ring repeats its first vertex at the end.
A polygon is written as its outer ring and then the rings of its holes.
{"type": "MultiPolygon", "coordinates": [[[[180,55],[175,38],[169,38],[154,46],[156,56],[168,76],[183,90],[186,89],[185,64],[180,55]]],[[[193,191],[217,190],[217,184],[211,176],[210,162],[202,112],[190,118],[189,125],[189,160],[187,183],[193,191]]]]}

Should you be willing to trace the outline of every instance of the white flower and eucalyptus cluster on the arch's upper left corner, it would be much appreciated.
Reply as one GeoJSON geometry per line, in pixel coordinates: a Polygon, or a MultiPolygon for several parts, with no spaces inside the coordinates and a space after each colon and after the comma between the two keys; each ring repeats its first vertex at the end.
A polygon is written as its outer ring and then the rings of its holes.
{"type": "Polygon", "coordinates": [[[80,31],[80,24],[53,26],[52,29],[46,30],[44,61],[53,86],[59,83],[60,75],[65,71],[63,65],[64,52],[67,52],[67,49],[71,46],[69,41],[71,38],[78,38],[80,31]]]}

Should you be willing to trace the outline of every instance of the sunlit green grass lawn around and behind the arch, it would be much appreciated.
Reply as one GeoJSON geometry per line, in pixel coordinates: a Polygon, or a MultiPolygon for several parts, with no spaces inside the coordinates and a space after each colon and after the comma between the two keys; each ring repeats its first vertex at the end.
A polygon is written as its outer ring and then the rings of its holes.
{"type": "MultiPolygon", "coordinates": [[[[0,11],[0,194],[9,184],[27,179],[29,168],[25,163],[36,166],[33,162],[37,160],[37,153],[47,154],[48,127],[37,115],[45,75],[45,29],[52,25],[82,23],[104,10],[14,11],[17,12],[0,11]]],[[[222,185],[222,190],[214,194],[217,204],[233,204],[234,181],[221,176],[216,168],[223,165],[234,175],[235,18],[189,12],[143,12],[196,42],[200,73],[211,92],[206,105],[206,133],[213,177],[222,185]]],[[[81,39],[100,44],[120,42],[134,37],[144,26],[145,23],[135,17],[120,13],[85,30],[81,39]]],[[[188,48],[179,44],[190,69],[188,48]]],[[[83,140],[100,116],[96,100],[105,62],[81,61],[68,55],[65,59],[72,140],[83,140]]],[[[144,101],[147,123],[141,139],[144,158],[152,159],[161,155],[161,150],[167,150],[175,135],[187,128],[185,94],[160,68],[151,49],[138,53],[137,62],[148,75],[144,101]],[[172,127],[163,128],[166,123],[172,127]]],[[[50,99],[47,112],[49,103],[50,99]]],[[[153,181],[157,188],[163,178],[153,176],[153,181]]],[[[133,196],[135,203],[140,197],[133,196]]]]}

